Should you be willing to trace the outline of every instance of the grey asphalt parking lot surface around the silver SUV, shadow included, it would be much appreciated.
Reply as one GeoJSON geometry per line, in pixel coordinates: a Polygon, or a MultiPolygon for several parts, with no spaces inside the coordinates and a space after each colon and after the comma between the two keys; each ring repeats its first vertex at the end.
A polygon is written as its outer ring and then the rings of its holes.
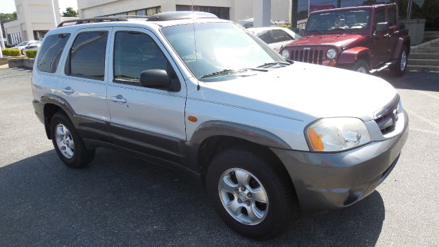
{"type": "Polygon", "coordinates": [[[86,169],[67,168],[34,115],[31,75],[0,69],[0,246],[439,246],[439,73],[381,73],[410,116],[393,172],[361,202],[268,242],[231,231],[169,169],[103,148],[86,169]]]}

